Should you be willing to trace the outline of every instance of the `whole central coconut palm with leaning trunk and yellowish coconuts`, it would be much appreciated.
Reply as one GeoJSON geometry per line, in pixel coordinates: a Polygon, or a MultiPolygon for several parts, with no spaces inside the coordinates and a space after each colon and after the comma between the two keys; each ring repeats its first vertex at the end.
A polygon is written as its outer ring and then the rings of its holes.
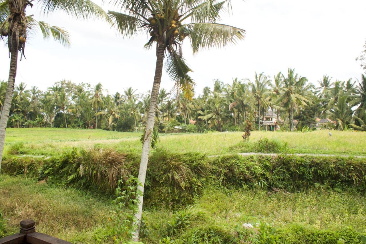
{"type": "MultiPolygon", "coordinates": [[[[157,97],[160,88],[161,74],[165,51],[169,53],[166,64],[167,73],[173,81],[179,84],[186,97],[193,97],[194,82],[188,75],[192,71],[182,58],[182,42],[185,38],[191,40],[194,53],[203,48],[225,47],[244,39],[244,30],[216,23],[220,19],[224,4],[230,0],[217,2],[215,0],[119,0],[115,1],[125,12],[109,11],[109,16],[119,32],[125,37],[136,36],[144,30],[150,34],[150,40],[145,47],[150,48],[156,43],[156,67],[151,91],[149,114],[147,116],[145,136],[138,179],[142,186],[145,184],[147,161],[154,128],[157,97]],[[191,20],[192,22],[188,22],[191,20]]],[[[138,226],[142,215],[143,196],[138,198],[139,211],[136,214],[138,226]]],[[[139,239],[139,228],[134,232],[134,240],[139,239]]]]}

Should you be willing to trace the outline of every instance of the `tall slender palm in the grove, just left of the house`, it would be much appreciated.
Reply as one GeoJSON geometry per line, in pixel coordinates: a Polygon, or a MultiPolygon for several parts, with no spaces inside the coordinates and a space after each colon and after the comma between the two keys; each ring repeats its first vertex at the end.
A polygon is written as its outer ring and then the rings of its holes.
{"type": "Polygon", "coordinates": [[[268,79],[263,72],[257,75],[255,72],[254,82],[249,81],[249,85],[251,87],[250,97],[252,97],[258,106],[258,130],[260,128],[260,120],[261,120],[261,106],[266,107],[268,104],[268,86],[271,84],[271,80],[268,79]]]}

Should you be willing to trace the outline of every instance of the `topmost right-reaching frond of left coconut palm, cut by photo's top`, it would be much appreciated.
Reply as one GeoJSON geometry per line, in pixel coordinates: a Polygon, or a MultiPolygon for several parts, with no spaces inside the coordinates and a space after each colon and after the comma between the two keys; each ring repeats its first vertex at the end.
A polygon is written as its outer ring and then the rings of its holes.
{"type": "Polygon", "coordinates": [[[90,0],[38,0],[45,14],[64,11],[77,19],[108,19],[107,13],[90,0]]]}

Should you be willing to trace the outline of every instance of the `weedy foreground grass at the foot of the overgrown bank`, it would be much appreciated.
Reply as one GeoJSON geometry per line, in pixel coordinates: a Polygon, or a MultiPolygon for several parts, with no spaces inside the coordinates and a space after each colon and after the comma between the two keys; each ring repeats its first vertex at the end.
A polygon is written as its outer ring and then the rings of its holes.
{"type": "MultiPolygon", "coordinates": [[[[2,175],[0,206],[13,232],[19,221],[32,218],[38,232],[73,243],[110,243],[108,213],[110,200],[74,189],[56,188],[45,182],[2,175]],[[106,237],[107,239],[101,239],[106,237]]],[[[365,196],[322,188],[306,192],[267,192],[259,188],[220,190],[206,188],[202,197],[183,210],[193,213],[181,234],[219,226],[229,233],[243,223],[268,222],[276,229],[305,226],[313,230],[352,228],[366,232],[365,196]]],[[[145,209],[144,243],[159,243],[168,233],[174,212],[145,209]]],[[[172,236],[175,238],[177,236],[172,236]]]]}

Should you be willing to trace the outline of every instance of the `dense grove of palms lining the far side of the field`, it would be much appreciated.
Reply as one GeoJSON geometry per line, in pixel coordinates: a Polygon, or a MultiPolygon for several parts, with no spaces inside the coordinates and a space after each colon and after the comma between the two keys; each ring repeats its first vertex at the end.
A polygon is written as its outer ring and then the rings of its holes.
{"type": "MultiPolygon", "coordinates": [[[[315,83],[315,82],[314,82],[315,83]]],[[[1,82],[0,106],[6,82],[1,82]]],[[[76,85],[59,81],[45,91],[24,83],[16,86],[8,127],[100,128],[142,131],[149,107],[149,93],[128,88],[108,94],[102,84],[76,85]]],[[[160,89],[156,125],[160,132],[243,130],[247,118],[255,129],[264,129],[265,113],[277,114],[281,129],[312,128],[316,118],[328,118],[334,129],[366,130],[366,76],[359,80],[333,81],[324,75],[317,87],[289,69],[273,78],[255,74],[253,79],[215,80],[213,89],[189,99],[176,90],[160,89]],[[296,123],[294,123],[294,121],[296,123]]]]}

